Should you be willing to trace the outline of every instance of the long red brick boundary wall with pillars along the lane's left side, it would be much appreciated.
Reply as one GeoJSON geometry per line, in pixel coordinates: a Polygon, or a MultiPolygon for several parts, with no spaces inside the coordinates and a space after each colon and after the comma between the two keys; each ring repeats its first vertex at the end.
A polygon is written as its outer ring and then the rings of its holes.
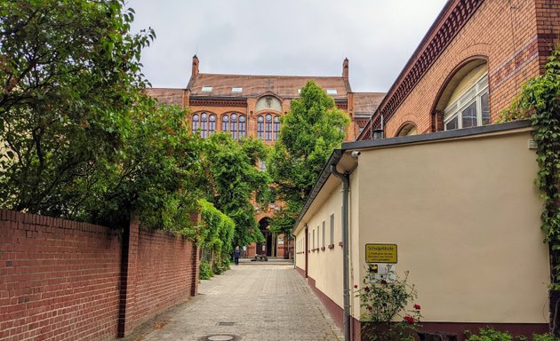
{"type": "Polygon", "coordinates": [[[0,340],[113,339],[196,294],[196,247],[139,225],[0,210],[0,340]]]}

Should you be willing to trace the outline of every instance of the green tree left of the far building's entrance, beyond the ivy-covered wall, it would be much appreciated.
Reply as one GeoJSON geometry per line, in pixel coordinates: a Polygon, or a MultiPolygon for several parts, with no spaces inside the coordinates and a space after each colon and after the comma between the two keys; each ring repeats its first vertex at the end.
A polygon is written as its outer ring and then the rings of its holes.
{"type": "Polygon", "coordinates": [[[267,148],[255,139],[238,143],[225,133],[205,139],[203,163],[208,201],[236,223],[235,245],[264,241],[252,202],[268,191],[268,174],[255,165],[266,154],[267,148]]]}

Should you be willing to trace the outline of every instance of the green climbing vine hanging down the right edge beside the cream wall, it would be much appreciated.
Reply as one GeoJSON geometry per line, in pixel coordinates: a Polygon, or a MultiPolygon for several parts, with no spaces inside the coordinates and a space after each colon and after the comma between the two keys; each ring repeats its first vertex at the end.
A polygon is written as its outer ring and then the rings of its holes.
{"type": "Polygon", "coordinates": [[[538,144],[536,183],[544,201],[541,228],[551,251],[552,289],[560,289],[560,50],[549,57],[544,75],[524,84],[501,117],[504,121],[523,118],[531,120],[532,136],[538,144]]]}

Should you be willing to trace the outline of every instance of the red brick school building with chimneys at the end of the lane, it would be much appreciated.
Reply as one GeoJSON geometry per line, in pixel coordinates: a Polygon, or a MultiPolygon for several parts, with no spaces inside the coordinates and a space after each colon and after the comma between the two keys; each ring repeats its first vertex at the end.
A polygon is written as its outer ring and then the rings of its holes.
{"type": "MultiPolygon", "coordinates": [[[[335,104],[350,116],[346,141],[354,141],[364,129],[375,108],[385,95],[380,92],[353,92],[348,79],[348,59],[342,63],[339,76],[285,75],[220,75],[204,74],[199,59],[192,60],[192,74],[186,89],[148,89],[148,94],[162,103],[188,107],[192,131],[208,137],[216,131],[228,131],[232,138],[252,137],[273,145],[280,131],[280,117],[290,110],[292,99],[300,89],[313,81],[332,96],[335,104]]],[[[265,167],[260,164],[260,167],[265,167]]],[[[268,231],[268,218],[276,204],[256,210],[256,218],[267,242],[249,246],[247,256],[263,253],[284,257],[287,243],[282,236],[268,231]],[[258,249],[258,250],[257,250],[258,249]]]]}

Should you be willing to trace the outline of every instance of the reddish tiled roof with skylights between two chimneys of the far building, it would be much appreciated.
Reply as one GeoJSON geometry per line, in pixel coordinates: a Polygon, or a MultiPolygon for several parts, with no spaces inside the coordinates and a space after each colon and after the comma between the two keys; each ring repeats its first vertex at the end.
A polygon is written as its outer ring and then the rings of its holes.
{"type": "Polygon", "coordinates": [[[299,97],[298,90],[305,86],[308,81],[314,81],[325,91],[328,89],[336,90],[336,94],[330,94],[333,99],[346,99],[347,93],[351,91],[348,81],[342,76],[221,74],[193,75],[188,82],[187,89],[190,90],[191,97],[250,98],[258,97],[270,91],[281,98],[294,99],[299,97]],[[212,87],[212,91],[203,91],[203,87],[212,87]],[[233,88],[241,88],[241,91],[232,92],[233,88]]]}

